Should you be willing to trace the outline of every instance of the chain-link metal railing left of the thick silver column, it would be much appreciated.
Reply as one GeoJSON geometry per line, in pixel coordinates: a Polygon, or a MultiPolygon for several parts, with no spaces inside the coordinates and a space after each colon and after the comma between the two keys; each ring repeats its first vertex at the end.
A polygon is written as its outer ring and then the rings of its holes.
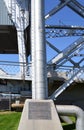
{"type": "Polygon", "coordinates": [[[0,61],[0,75],[16,75],[20,72],[20,67],[23,67],[23,75],[30,75],[30,64],[22,62],[0,61]],[[25,67],[26,69],[24,69],[25,67]]]}

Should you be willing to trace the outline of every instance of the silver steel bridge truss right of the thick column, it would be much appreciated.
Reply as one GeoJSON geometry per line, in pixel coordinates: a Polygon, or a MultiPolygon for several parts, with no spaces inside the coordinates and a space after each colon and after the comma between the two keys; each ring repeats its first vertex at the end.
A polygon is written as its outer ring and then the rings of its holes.
{"type": "Polygon", "coordinates": [[[56,52],[49,59],[48,65],[52,70],[63,71],[68,76],[68,80],[51,95],[52,99],[57,98],[75,79],[77,81],[84,81],[84,25],[81,26],[76,21],[74,23],[73,15],[71,20],[74,24],[65,25],[64,21],[54,24],[53,21],[55,20],[56,22],[56,18],[63,13],[64,8],[67,8],[67,10],[68,8],[71,9],[72,14],[75,12],[75,15],[84,20],[84,3],[81,3],[80,0],[58,0],[56,5],[54,4],[54,7],[45,15],[45,21],[48,23],[45,25],[46,43],[56,52]],[[52,21],[50,24],[49,20],[52,21]],[[76,40],[74,40],[74,37],[76,37],[76,40]],[[73,40],[70,44],[67,42],[67,46],[61,49],[61,46],[65,44],[60,40],[62,38],[73,38],[73,40]],[[59,43],[60,47],[56,46],[58,42],[61,42],[61,44],[59,43]]]}

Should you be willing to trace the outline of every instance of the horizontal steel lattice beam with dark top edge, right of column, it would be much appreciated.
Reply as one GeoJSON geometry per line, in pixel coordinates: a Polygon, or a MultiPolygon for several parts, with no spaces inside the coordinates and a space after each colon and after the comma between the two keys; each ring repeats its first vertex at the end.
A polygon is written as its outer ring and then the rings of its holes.
{"type": "Polygon", "coordinates": [[[83,36],[84,26],[45,25],[46,38],[83,36]]]}

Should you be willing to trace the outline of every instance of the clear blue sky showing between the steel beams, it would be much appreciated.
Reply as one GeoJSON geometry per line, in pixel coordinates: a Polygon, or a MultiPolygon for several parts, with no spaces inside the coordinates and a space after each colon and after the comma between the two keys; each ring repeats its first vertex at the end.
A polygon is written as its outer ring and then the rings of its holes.
{"type": "MultiPolygon", "coordinates": [[[[53,9],[60,0],[45,0],[45,14],[47,14],[51,9],[53,9]]],[[[84,6],[84,0],[78,0],[84,6]]],[[[73,12],[70,8],[65,6],[55,15],[50,17],[45,21],[47,25],[77,25],[84,26],[84,18],[80,17],[78,14],[73,12]]],[[[54,46],[56,46],[59,50],[63,50],[68,45],[73,43],[79,37],[63,37],[63,38],[48,38],[49,42],[51,42],[54,46]]],[[[55,51],[53,51],[50,47],[46,46],[47,51],[47,61],[49,61],[53,56],[57,55],[55,51]]],[[[83,50],[84,53],[84,50],[83,50]]],[[[0,60],[6,61],[15,61],[18,62],[18,55],[0,55],[0,60]]]]}

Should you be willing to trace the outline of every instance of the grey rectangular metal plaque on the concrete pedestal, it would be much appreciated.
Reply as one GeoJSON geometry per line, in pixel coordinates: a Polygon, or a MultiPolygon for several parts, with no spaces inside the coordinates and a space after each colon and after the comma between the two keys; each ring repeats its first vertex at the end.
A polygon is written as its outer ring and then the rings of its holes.
{"type": "Polygon", "coordinates": [[[51,120],[49,102],[29,102],[28,118],[33,120],[51,120]]]}

